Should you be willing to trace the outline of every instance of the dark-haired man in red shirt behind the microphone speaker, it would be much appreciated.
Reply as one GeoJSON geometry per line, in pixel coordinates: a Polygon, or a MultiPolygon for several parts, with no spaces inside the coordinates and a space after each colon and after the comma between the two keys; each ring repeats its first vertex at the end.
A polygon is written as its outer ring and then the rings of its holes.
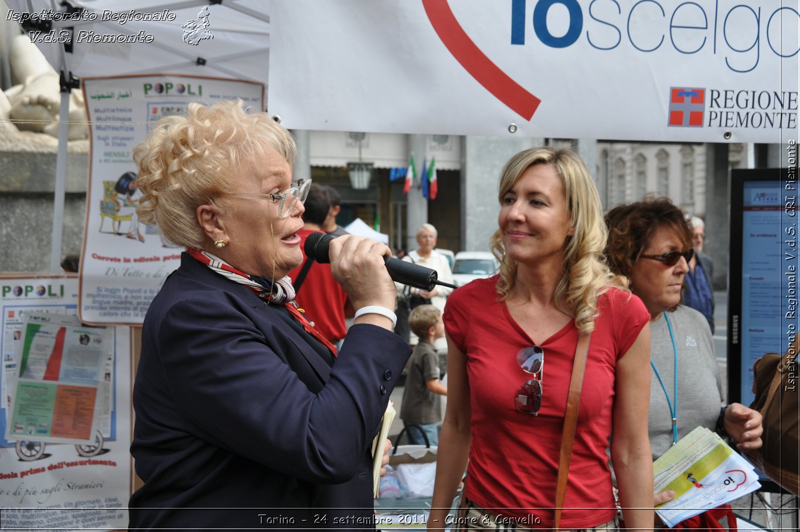
{"type": "Polygon", "coordinates": [[[298,268],[289,272],[294,290],[297,295],[299,308],[306,312],[306,316],[314,323],[322,336],[331,344],[338,345],[345,337],[347,326],[345,324],[345,303],[347,294],[340,284],[334,280],[330,271],[330,264],[319,264],[306,257],[306,238],[313,232],[321,232],[330,212],[330,201],[325,187],[311,183],[308,197],[304,204],[303,228],[298,232],[302,239],[300,249],[303,249],[303,262],[298,268]]]}

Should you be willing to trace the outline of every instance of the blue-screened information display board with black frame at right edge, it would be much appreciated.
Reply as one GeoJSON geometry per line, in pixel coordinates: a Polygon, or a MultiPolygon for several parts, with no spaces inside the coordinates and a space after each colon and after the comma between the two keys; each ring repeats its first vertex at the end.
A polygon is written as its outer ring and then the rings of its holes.
{"type": "MultiPolygon", "coordinates": [[[[790,161],[796,146],[787,145],[790,161]]],[[[753,401],[753,364],[798,329],[797,165],[730,175],[729,401],[753,401]]]]}

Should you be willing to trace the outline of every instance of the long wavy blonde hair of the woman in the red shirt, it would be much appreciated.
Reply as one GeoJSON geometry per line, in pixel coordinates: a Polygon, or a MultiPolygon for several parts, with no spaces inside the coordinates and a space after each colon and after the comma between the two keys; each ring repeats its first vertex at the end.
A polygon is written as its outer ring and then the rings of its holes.
{"type": "MultiPolygon", "coordinates": [[[[514,155],[503,167],[498,187],[498,200],[514,187],[524,171],[537,164],[554,167],[561,177],[570,212],[570,228],[564,248],[562,280],[555,290],[558,308],[575,319],[581,332],[594,330],[598,316],[598,297],[611,286],[624,288],[624,280],[610,272],[603,249],[606,247],[606,224],[603,223],[600,197],[589,170],[572,150],[536,147],[514,155]]],[[[498,229],[490,240],[491,250],[500,261],[497,291],[505,300],[517,278],[518,264],[506,254],[502,233],[498,229]]]]}

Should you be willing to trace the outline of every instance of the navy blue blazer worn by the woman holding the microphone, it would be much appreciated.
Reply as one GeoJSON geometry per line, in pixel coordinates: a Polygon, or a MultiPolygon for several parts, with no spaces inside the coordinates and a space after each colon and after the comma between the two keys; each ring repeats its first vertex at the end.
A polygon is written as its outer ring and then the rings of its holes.
{"type": "Polygon", "coordinates": [[[370,525],[371,445],[411,350],[358,324],[331,368],[279,312],[183,253],[142,330],[130,530],[370,525]]]}

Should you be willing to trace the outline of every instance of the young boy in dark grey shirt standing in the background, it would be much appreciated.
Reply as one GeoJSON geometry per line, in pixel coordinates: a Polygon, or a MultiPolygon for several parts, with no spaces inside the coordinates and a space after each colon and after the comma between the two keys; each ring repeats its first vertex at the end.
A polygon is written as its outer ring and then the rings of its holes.
{"type": "MultiPolygon", "coordinates": [[[[408,361],[406,389],[402,393],[400,418],[405,425],[416,423],[428,436],[430,445],[438,445],[437,424],[442,421],[442,395],[447,388],[439,381],[439,361],[434,341],[445,336],[442,312],[432,304],[422,304],[408,316],[411,330],[419,337],[408,361]]],[[[406,431],[412,444],[425,445],[416,429],[406,431]]]]}

